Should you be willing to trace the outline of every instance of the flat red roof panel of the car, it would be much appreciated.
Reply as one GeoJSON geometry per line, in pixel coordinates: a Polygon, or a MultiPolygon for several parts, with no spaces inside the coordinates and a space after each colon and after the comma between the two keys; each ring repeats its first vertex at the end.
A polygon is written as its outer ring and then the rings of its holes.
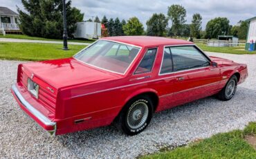
{"type": "Polygon", "coordinates": [[[102,37],[101,39],[117,41],[134,46],[159,46],[159,45],[191,45],[190,41],[181,39],[170,39],[165,37],[149,37],[149,36],[120,36],[120,37],[102,37]]]}

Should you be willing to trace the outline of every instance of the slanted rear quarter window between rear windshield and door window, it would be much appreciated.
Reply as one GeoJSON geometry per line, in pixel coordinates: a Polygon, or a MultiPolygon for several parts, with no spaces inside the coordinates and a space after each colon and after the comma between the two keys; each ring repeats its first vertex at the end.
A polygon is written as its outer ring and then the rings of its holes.
{"type": "Polygon", "coordinates": [[[148,73],[152,71],[154,61],[156,58],[156,51],[157,51],[156,48],[151,48],[147,50],[147,53],[145,53],[143,59],[138,65],[138,68],[136,69],[135,74],[148,73]]]}

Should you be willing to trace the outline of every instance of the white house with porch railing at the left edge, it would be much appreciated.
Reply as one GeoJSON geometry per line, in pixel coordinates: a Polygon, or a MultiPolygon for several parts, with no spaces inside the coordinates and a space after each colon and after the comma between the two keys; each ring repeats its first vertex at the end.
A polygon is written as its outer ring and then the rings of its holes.
{"type": "Polygon", "coordinates": [[[0,30],[19,32],[19,15],[6,7],[0,6],[0,30]]]}

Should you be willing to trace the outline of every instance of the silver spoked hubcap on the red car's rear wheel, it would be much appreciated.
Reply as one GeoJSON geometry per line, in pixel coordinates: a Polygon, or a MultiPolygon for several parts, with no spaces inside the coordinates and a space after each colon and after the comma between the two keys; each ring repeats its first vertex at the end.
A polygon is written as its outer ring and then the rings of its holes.
{"type": "Polygon", "coordinates": [[[148,115],[149,109],[147,104],[145,102],[137,102],[128,111],[127,124],[131,129],[138,129],[145,124],[148,115]]]}

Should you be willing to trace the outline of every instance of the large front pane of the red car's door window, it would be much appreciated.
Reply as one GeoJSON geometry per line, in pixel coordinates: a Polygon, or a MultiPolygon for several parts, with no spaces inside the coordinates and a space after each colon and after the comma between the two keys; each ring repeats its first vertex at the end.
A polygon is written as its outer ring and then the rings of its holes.
{"type": "Polygon", "coordinates": [[[194,46],[170,47],[174,71],[209,66],[209,60],[194,46]]]}

